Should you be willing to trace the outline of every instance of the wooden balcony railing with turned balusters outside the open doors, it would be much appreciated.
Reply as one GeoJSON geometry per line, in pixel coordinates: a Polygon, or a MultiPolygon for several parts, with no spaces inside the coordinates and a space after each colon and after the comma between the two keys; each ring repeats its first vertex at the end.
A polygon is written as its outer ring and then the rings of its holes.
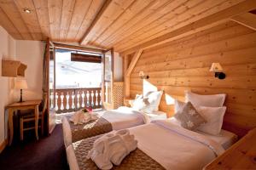
{"type": "MultiPolygon", "coordinates": [[[[55,111],[66,113],[78,111],[85,106],[102,108],[102,88],[60,88],[55,90],[55,111]]],[[[50,108],[53,107],[53,93],[50,94],[50,108]]]]}

